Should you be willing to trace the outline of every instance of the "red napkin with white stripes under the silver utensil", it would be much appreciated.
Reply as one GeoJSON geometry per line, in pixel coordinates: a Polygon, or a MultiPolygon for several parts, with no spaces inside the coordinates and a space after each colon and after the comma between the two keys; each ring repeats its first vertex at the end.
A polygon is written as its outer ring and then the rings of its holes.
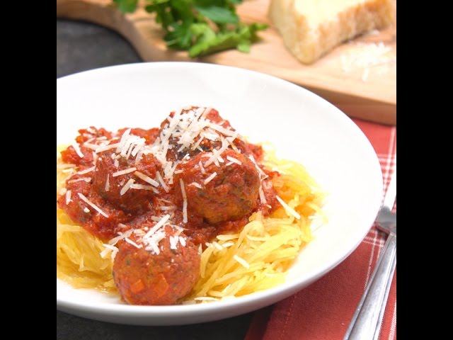
{"type": "MultiPolygon", "coordinates": [[[[396,127],[354,122],[379,157],[386,188],[396,162],[396,127]]],[[[385,240],[386,234],[373,225],[360,246],[333,271],[299,293],[258,310],[246,340],[343,339],[385,240]]],[[[396,339],[396,271],[379,339],[396,339]]]]}

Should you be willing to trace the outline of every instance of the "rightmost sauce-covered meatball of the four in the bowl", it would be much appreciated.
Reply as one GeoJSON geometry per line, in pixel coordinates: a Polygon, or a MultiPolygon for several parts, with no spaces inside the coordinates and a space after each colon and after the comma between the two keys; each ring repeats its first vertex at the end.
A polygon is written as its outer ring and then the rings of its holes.
{"type": "MultiPolygon", "coordinates": [[[[176,167],[175,183],[183,180],[188,202],[188,215],[203,217],[210,224],[238,220],[257,207],[260,177],[255,164],[248,157],[232,149],[222,153],[219,166],[205,164],[212,153],[200,152],[176,167]],[[236,162],[229,161],[235,159],[236,162]],[[238,164],[241,163],[241,164],[238,164]],[[211,176],[215,176],[210,180],[211,176]]],[[[176,200],[183,202],[180,186],[176,186],[176,200]]]]}

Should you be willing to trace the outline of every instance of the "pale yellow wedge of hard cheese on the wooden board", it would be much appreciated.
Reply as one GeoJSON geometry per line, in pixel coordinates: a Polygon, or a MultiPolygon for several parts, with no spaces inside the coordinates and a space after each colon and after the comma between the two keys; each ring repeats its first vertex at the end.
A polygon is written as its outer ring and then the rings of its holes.
{"type": "Polygon", "coordinates": [[[394,1],[270,0],[269,16],[292,55],[311,64],[345,40],[394,23],[394,1]]]}

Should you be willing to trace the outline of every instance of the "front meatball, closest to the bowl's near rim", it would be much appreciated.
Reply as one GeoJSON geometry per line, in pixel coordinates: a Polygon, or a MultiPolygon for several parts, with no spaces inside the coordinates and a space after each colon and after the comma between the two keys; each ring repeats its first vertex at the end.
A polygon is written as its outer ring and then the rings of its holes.
{"type": "Polygon", "coordinates": [[[113,263],[113,277],[122,298],[130,305],[175,305],[190,293],[200,275],[200,254],[183,234],[183,244],[170,237],[175,230],[167,225],[166,237],[159,242],[159,254],[145,250],[137,234],[121,242],[113,263]]]}

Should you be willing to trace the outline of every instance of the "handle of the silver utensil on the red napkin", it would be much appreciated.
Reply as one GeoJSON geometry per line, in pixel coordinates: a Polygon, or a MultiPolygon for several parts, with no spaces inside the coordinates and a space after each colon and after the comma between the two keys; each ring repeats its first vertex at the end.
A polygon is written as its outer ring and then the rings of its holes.
{"type": "Polygon", "coordinates": [[[395,234],[389,234],[383,251],[343,340],[373,339],[380,327],[379,316],[386,306],[388,285],[396,265],[395,234]]]}

